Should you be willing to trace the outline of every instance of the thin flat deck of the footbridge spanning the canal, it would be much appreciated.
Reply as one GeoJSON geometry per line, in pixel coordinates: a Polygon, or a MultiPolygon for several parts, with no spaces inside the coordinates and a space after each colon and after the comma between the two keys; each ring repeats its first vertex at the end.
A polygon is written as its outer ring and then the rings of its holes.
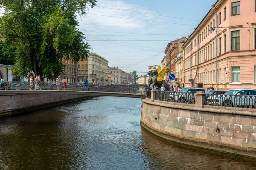
{"type": "Polygon", "coordinates": [[[68,95],[87,95],[87,96],[116,96],[116,97],[131,97],[145,99],[145,94],[118,93],[118,92],[103,92],[103,91],[56,91],[56,90],[1,90],[1,95],[20,95],[20,94],[68,94],[68,95]]]}

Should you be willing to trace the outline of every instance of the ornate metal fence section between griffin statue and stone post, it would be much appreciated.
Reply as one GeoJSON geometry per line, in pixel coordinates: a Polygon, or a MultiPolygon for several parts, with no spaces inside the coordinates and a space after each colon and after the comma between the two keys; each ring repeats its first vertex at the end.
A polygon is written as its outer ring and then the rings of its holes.
{"type": "Polygon", "coordinates": [[[179,93],[169,91],[156,91],[156,100],[176,103],[195,104],[194,93],[179,93]]]}

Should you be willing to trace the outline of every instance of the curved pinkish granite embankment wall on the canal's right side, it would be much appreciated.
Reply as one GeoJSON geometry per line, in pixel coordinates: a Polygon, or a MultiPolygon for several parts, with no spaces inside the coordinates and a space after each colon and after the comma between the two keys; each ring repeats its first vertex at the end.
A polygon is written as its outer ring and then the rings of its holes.
{"type": "Polygon", "coordinates": [[[141,125],[176,142],[256,158],[255,111],[143,99],[141,125]]]}

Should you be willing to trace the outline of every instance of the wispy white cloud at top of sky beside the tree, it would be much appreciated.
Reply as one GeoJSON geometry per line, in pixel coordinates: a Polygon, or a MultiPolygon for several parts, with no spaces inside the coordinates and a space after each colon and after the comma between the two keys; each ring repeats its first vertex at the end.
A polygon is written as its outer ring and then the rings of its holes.
{"type": "Polygon", "coordinates": [[[123,26],[123,27],[145,27],[146,21],[141,20],[154,20],[153,15],[149,14],[140,14],[128,11],[138,11],[145,13],[153,13],[152,11],[148,11],[140,6],[127,3],[125,1],[114,1],[114,0],[99,0],[97,6],[108,7],[108,8],[100,8],[94,7],[88,9],[88,14],[81,18],[79,17],[80,26],[83,24],[94,24],[94,25],[104,25],[104,26],[123,26]],[[110,8],[128,10],[128,11],[120,11],[110,8]],[[134,18],[140,20],[128,20],[123,18],[115,18],[115,17],[104,17],[90,14],[99,14],[99,15],[108,15],[108,16],[116,16],[116,17],[125,17],[125,18],[134,18]]]}

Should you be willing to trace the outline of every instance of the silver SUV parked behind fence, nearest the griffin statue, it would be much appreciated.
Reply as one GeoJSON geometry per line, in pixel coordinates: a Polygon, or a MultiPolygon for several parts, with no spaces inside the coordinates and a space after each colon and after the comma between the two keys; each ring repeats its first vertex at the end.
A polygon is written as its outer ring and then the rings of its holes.
{"type": "Polygon", "coordinates": [[[195,93],[198,91],[203,91],[207,93],[207,88],[182,88],[179,92],[171,92],[171,99],[180,101],[180,102],[195,102],[195,93]]]}

